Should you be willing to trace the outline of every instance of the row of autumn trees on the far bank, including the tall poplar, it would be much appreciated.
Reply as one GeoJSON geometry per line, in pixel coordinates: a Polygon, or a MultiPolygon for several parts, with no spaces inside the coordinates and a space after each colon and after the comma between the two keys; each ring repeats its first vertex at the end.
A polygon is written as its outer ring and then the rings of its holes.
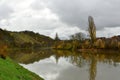
{"type": "MultiPolygon", "coordinates": [[[[96,26],[92,16],[88,17],[89,38],[79,32],[70,36],[70,40],[57,40],[54,49],[120,49],[120,35],[111,38],[96,37],[96,26]]],[[[58,34],[57,34],[58,38],[58,34]]]]}

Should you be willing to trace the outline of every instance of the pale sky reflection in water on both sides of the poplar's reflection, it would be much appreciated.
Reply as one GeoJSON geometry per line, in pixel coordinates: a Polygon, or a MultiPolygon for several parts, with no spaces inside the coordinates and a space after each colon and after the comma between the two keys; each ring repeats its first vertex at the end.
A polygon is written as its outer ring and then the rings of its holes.
{"type": "MultiPolygon", "coordinates": [[[[33,64],[21,64],[25,68],[43,77],[45,80],[89,80],[90,65],[79,68],[67,58],[59,58],[56,63],[54,56],[33,64]]],[[[120,66],[97,62],[95,80],[120,80],[120,66]]]]}

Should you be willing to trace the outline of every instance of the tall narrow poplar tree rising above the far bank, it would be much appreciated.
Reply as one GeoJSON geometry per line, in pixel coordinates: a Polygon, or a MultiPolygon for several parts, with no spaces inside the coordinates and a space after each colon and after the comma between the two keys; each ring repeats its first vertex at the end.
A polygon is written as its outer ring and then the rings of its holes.
{"type": "Polygon", "coordinates": [[[89,22],[88,32],[91,38],[91,42],[93,44],[96,40],[96,26],[94,24],[94,19],[92,16],[88,17],[88,22],[89,22]]]}

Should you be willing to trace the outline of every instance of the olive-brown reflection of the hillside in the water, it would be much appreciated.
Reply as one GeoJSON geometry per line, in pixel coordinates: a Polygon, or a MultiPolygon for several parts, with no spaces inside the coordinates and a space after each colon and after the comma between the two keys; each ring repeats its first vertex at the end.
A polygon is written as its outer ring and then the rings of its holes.
{"type": "Polygon", "coordinates": [[[41,59],[45,59],[53,55],[51,50],[12,50],[9,52],[9,56],[19,62],[24,64],[30,64],[41,59]]]}

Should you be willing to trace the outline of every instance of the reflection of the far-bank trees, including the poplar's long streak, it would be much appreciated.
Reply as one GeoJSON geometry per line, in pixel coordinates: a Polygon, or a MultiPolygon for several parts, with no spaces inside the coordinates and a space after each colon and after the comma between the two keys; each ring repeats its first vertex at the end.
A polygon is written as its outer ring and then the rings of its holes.
{"type": "Polygon", "coordinates": [[[97,63],[102,62],[104,64],[110,64],[113,66],[117,66],[117,63],[120,62],[120,52],[119,51],[99,51],[99,50],[90,50],[90,51],[83,51],[83,52],[70,52],[70,51],[62,51],[57,50],[54,51],[55,56],[57,56],[57,60],[60,57],[69,58],[69,62],[72,64],[83,67],[89,64],[89,80],[95,80],[97,74],[97,63]]]}

